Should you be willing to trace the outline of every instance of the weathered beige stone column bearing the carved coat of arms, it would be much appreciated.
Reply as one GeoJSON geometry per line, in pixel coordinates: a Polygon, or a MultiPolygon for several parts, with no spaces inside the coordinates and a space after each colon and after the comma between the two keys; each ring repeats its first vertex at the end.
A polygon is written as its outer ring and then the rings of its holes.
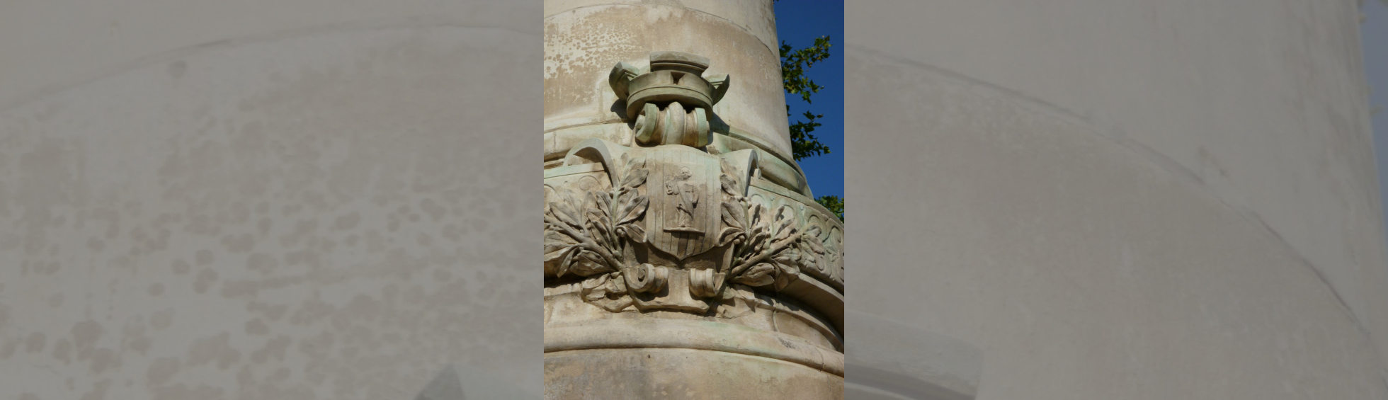
{"type": "Polygon", "coordinates": [[[545,397],[841,399],[770,1],[545,1],[545,397]]]}

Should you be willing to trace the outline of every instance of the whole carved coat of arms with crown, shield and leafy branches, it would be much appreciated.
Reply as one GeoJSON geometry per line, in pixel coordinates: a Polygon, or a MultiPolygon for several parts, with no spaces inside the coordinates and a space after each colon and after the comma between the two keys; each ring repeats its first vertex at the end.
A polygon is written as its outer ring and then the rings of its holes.
{"type": "Polygon", "coordinates": [[[841,224],[755,189],[755,151],[708,149],[729,76],[702,76],[709,60],[688,53],[650,57],[647,71],[618,62],[608,78],[636,146],[589,139],[547,172],[547,279],[577,281],[584,301],[613,312],[725,318],[802,274],[841,290],[841,224]]]}

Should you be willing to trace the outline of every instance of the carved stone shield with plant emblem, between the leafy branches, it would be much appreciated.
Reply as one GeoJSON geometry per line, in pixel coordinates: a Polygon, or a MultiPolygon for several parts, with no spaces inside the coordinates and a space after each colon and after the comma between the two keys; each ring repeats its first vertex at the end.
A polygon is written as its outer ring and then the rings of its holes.
{"type": "Polygon", "coordinates": [[[687,146],[659,146],[647,153],[647,238],[679,260],[713,249],[719,219],[719,160],[687,146]]]}

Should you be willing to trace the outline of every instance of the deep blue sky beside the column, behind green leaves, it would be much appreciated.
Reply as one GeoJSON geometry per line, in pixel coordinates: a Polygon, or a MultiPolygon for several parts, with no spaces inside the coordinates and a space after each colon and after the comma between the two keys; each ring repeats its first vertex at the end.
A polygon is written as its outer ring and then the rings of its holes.
{"type": "MultiPolygon", "coordinates": [[[[815,38],[829,36],[830,57],[816,62],[805,75],[811,81],[824,86],[819,93],[811,96],[812,104],[806,104],[799,94],[786,96],[791,115],[801,115],[805,111],[824,114],[816,119],[823,126],[815,128],[815,135],[820,143],[829,146],[830,154],[809,157],[799,161],[809,178],[809,189],[815,196],[844,196],[844,1],[826,0],[787,0],[776,1],[776,36],[795,47],[809,47],[815,44],[815,38]]],[[[798,121],[804,117],[794,118],[798,121]]],[[[845,204],[847,206],[847,204],[845,204]]],[[[844,207],[847,208],[847,207],[844,207]]]]}

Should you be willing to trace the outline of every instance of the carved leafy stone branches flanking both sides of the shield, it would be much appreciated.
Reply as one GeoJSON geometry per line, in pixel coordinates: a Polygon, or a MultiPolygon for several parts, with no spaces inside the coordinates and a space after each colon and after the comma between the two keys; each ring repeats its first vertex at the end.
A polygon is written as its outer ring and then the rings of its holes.
{"type": "MultiPolygon", "coordinates": [[[[629,160],[623,154],[618,161],[620,167],[615,168],[619,174],[612,176],[616,182],[612,189],[577,194],[558,188],[557,199],[548,203],[544,212],[547,275],[584,276],[580,282],[583,299],[609,311],[632,306],[630,290],[663,286],[665,271],[665,267],[629,260],[633,254],[630,247],[647,240],[643,217],[650,208],[650,199],[640,194],[640,188],[647,183],[650,172],[645,158],[629,160]],[[640,276],[623,276],[629,274],[640,276]]],[[[820,239],[824,233],[822,228],[801,224],[791,206],[769,206],[765,200],[743,196],[741,174],[726,158],[720,162],[725,228],[718,232],[716,240],[719,247],[731,246],[733,257],[716,272],[691,271],[693,294],[729,306],[736,303],[734,297],[744,300],[743,304],[755,303],[755,294],[748,289],[780,292],[799,279],[801,268],[824,272],[836,261],[834,257],[840,257],[837,249],[826,247],[824,239],[820,239]]]]}

